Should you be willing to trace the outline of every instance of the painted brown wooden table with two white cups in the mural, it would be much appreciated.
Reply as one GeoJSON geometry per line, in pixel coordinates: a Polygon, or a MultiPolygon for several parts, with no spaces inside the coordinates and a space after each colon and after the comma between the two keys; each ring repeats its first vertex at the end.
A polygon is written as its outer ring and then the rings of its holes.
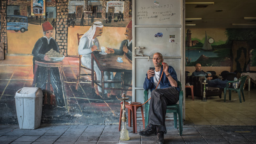
{"type": "MultiPolygon", "coordinates": [[[[97,63],[99,70],[101,71],[101,85],[94,81],[94,75],[92,75],[92,88],[94,88],[94,83],[102,88],[102,96],[104,94],[104,89],[113,89],[121,91],[131,91],[132,89],[125,89],[124,85],[124,72],[132,72],[132,64],[125,59],[124,56],[107,54],[102,55],[99,51],[92,52],[92,73],[94,72],[94,60],[97,63]],[[118,57],[122,58],[123,62],[118,62],[118,57]],[[104,81],[104,72],[121,72],[121,81],[104,81]],[[121,88],[104,88],[104,83],[121,83],[121,88]]],[[[123,92],[122,92],[123,93],[123,92]]]]}

